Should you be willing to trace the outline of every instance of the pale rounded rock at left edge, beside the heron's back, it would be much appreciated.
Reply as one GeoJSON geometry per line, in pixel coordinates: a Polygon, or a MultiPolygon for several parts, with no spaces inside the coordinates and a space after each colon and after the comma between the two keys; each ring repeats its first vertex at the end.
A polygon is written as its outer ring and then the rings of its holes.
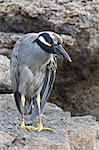
{"type": "Polygon", "coordinates": [[[10,93],[10,60],[6,56],[0,55],[0,93],[10,93]]]}

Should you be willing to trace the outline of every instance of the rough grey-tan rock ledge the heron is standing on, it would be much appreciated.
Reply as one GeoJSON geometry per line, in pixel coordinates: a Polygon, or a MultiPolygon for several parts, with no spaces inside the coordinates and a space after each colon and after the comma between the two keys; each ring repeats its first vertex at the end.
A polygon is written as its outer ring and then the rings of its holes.
{"type": "MultiPolygon", "coordinates": [[[[48,103],[44,126],[53,132],[29,132],[20,128],[13,94],[0,95],[0,150],[98,150],[99,123],[92,116],[71,117],[48,103]]],[[[29,121],[30,117],[26,117],[29,121]]]]}

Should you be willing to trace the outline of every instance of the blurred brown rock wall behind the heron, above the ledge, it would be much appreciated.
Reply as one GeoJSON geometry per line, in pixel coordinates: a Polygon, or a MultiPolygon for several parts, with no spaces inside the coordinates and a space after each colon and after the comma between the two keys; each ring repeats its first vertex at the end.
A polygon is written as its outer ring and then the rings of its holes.
{"type": "Polygon", "coordinates": [[[0,94],[12,93],[10,54],[24,33],[59,33],[72,63],[58,58],[49,98],[64,111],[99,120],[99,2],[96,0],[0,0],[0,94]]]}

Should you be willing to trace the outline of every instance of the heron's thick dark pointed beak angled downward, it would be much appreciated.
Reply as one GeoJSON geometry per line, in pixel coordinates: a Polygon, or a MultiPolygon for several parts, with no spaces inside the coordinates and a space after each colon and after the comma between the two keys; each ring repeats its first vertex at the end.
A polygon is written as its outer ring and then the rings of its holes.
{"type": "Polygon", "coordinates": [[[69,62],[72,62],[70,56],[68,55],[68,53],[64,50],[64,48],[61,45],[54,45],[54,50],[56,53],[62,55],[69,62]]]}

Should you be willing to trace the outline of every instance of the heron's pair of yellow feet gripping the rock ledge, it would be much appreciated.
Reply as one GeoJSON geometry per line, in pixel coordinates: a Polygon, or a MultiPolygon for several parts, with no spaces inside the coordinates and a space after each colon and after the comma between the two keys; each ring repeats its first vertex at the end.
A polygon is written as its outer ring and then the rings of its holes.
{"type": "Polygon", "coordinates": [[[51,128],[43,127],[42,124],[39,124],[38,127],[34,127],[33,125],[29,125],[29,126],[26,125],[26,126],[23,126],[22,128],[27,129],[28,131],[38,131],[38,132],[43,131],[43,130],[47,130],[50,132],[53,131],[53,129],[51,128]]]}

